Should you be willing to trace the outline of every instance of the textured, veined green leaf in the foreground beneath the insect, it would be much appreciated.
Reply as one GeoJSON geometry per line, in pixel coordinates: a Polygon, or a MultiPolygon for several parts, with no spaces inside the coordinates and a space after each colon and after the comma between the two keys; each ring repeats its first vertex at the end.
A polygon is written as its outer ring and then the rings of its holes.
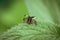
{"type": "Polygon", "coordinates": [[[0,35],[0,40],[59,40],[57,25],[44,22],[37,22],[37,24],[21,23],[0,35]]]}

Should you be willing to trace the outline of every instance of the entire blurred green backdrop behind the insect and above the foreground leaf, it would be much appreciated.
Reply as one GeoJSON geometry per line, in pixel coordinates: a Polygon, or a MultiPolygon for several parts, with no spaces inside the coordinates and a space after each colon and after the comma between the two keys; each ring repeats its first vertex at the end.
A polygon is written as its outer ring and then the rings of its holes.
{"type": "Polygon", "coordinates": [[[0,0],[0,33],[22,23],[28,9],[40,20],[60,25],[60,0],[0,0]]]}

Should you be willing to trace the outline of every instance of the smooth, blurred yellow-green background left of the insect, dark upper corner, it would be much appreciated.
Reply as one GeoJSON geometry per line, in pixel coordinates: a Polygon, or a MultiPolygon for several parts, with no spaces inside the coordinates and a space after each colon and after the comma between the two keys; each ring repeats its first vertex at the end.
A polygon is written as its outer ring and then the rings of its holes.
{"type": "Polygon", "coordinates": [[[18,23],[28,14],[24,0],[0,0],[0,33],[18,23]]]}

